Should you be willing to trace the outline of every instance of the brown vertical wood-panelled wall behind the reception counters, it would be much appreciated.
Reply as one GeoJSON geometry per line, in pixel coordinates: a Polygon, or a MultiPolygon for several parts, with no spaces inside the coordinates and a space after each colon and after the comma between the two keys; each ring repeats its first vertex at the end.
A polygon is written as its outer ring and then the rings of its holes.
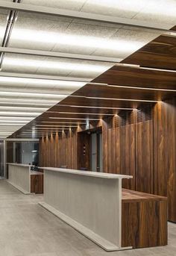
{"type": "MultiPolygon", "coordinates": [[[[133,175],[124,181],[125,188],[168,196],[169,220],[176,222],[175,99],[122,112],[90,128],[99,126],[104,172],[133,175]]],[[[40,140],[40,166],[89,169],[89,139],[78,131],[40,140]],[[86,155],[80,142],[86,146],[86,155]]]]}

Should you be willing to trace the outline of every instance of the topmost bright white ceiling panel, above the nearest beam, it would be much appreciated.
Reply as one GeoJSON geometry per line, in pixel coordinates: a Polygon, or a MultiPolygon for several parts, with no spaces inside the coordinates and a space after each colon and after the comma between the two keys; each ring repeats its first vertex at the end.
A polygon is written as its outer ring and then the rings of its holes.
{"type": "Polygon", "coordinates": [[[35,4],[45,7],[57,7],[68,10],[78,10],[87,13],[98,13],[118,16],[126,19],[137,19],[149,22],[163,22],[175,25],[175,0],[23,0],[24,4],[35,4]]]}

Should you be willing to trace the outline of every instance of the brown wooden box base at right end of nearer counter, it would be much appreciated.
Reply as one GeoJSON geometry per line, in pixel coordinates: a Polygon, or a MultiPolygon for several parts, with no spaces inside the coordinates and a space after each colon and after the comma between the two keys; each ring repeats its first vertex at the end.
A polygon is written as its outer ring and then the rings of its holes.
{"type": "Polygon", "coordinates": [[[122,247],[166,246],[167,199],[133,190],[122,190],[122,247]]]}

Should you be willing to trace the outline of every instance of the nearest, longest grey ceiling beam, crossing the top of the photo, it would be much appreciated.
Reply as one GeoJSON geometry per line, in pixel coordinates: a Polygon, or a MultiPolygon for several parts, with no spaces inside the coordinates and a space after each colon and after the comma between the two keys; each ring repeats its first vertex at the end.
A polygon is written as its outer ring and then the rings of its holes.
{"type": "MultiPolygon", "coordinates": [[[[76,19],[88,19],[88,20],[94,20],[98,22],[109,22],[113,24],[130,25],[135,27],[156,29],[159,31],[169,30],[169,25],[161,22],[146,22],[146,21],[139,21],[136,19],[124,19],[116,16],[101,15],[98,13],[84,13],[84,12],[75,11],[75,10],[65,10],[65,9],[37,6],[37,5],[31,5],[31,4],[21,4],[21,3],[18,4],[18,3],[13,3],[11,1],[8,2],[8,1],[0,0],[0,7],[7,10],[19,10],[19,11],[24,11],[28,13],[40,13],[40,14],[48,14],[48,15],[54,15],[54,16],[66,16],[66,17],[76,18],[76,19]]],[[[173,25],[171,24],[170,28],[172,27],[173,25]]]]}

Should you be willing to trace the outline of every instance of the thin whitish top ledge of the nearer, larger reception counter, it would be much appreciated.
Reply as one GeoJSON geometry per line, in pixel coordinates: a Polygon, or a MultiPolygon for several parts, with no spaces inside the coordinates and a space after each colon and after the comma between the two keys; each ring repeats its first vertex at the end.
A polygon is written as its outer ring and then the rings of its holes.
{"type": "Polygon", "coordinates": [[[119,175],[119,174],[112,174],[106,172],[87,172],[81,171],[77,169],[63,169],[63,168],[55,168],[55,167],[38,167],[38,169],[48,170],[51,172],[63,172],[73,175],[83,175],[83,176],[90,176],[95,178],[110,178],[110,179],[120,179],[120,178],[133,178],[130,175],[119,175]]]}

